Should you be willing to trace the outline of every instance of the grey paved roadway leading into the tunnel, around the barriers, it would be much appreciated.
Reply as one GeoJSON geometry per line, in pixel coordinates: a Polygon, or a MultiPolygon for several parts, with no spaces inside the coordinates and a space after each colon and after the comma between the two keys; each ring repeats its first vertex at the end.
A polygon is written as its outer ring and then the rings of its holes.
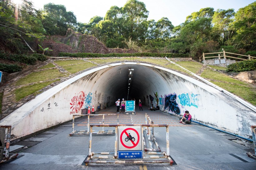
{"type": "MultiPolygon", "coordinates": [[[[143,109],[139,111],[137,108],[136,115],[120,113],[119,123],[145,124],[145,113],[147,113],[154,124],[169,124],[170,156],[175,161],[172,166],[166,163],[85,166],[89,136],[69,136],[72,122],[67,122],[12,144],[11,153],[18,152],[19,155],[16,159],[0,164],[0,169],[255,169],[256,160],[246,154],[246,152],[254,153],[253,144],[194,122],[183,125],[179,123],[179,117],[161,111],[150,111],[147,106],[143,106],[143,109]]],[[[111,113],[116,113],[115,106],[96,112],[96,114],[111,113]]],[[[90,123],[100,124],[102,117],[91,116],[90,123]]],[[[116,116],[105,116],[104,123],[116,124],[116,116]]],[[[87,131],[87,116],[77,118],[74,129],[87,131]]],[[[154,135],[161,151],[165,151],[165,128],[154,128],[154,135]]],[[[92,152],[114,152],[114,149],[114,135],[92,136],[92,152]]]]}

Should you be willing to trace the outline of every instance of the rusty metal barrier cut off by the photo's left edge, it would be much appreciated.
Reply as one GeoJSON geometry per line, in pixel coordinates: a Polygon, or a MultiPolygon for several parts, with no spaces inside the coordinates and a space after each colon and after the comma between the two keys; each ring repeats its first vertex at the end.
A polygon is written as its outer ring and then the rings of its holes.
{"type": "MultiPolygon", "coordinates": [[[[5,161],[7,161],[9,159],[16,158],[18,156],[18,154],[12,154],[10,156],[10,153],[9,153],[9,151],[10,151],[10,140],[11,140],[11,128],[12,128],[12,126],[0,126],[0,128],[4,128],[4,136],[5,136],[5,128],[7,128],[6,151],[5,151],[5,154],[3,154],[5,156],[5,158],[0,160],[0,163],[3,163],[3,162],[5,162],[5,161]]],[[[4,146],[5,141],[3,140],[2,142],[1,143],[4,146]]],[[[1,158],[2,158],[2,155],[1,155],[1,158]]]]}

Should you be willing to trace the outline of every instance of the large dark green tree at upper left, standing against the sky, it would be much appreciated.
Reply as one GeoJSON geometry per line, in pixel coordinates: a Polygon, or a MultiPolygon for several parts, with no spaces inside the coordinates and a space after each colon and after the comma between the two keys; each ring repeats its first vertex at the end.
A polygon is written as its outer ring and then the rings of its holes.
{"type": "Polygon", "coordinates": [[[76,16],[71,11],[66,11],[64,5],[48,3],[44,5],[42,23],[47,34],[65,35],[68,28],[76,26],[76,16]]]}

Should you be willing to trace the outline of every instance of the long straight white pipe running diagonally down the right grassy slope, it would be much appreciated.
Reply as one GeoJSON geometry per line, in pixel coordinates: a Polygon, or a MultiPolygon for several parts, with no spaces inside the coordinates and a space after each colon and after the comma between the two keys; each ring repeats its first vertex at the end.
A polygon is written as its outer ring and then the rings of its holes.
{"type": "Polygon", "coordinates": [[[217,89],[217,90],[223,92],[224,94],[229,95],[229,96],[232,97],[233,99],[235,99],[235,100],[237,100],[238,102],[242,103],[242,104],[243,104],[244,106],[246,106],[247,108],[249,108],[249,109],[253,110],[254,112],[256,112],[256,107],[253,106],[252,104],[250,104],[250,103],[248,103],[248,102],[246,102],[246,101],[240,99],[239,97],[237,97],[237,96],[235,96],[234,94],[228,92],[227,90],[224,90],[224,89],[220,88],[219,86],[214,85],[213,83],[211,83],[211,82],[205,80],[204,78],[202,78],[202,77],[200,77],[200,76],[198,76],[198,75],[192,73],[191,71],[185,69],[184,67],[181,67],[179,64],[176,64],[175,62],[170,61],[167,57],[165,57],[165,59],[168,60],[170,63],[175,64],[176,66],[182,68],[183,70],[185,70],[186,72],[188,72],[188,73],[190,73],[191,75],[195,76],[196,78],[202,80],[204,83],[206,83],[206,84],[208,84],[208,85],[214,87],[215,89],[217,89]]]}

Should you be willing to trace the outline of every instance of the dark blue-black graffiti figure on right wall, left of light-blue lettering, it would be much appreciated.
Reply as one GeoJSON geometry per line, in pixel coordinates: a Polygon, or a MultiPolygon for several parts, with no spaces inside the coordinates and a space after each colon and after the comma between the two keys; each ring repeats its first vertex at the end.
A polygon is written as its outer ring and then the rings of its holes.
{"type": "Polygon", "coordinates": [[[176,98],[177,95],[175,93],[165,95],[165,109],[169,108],[168,111],[180,114],[180,108],[178,106],[178,103],[176,103],[176,98]]]}

